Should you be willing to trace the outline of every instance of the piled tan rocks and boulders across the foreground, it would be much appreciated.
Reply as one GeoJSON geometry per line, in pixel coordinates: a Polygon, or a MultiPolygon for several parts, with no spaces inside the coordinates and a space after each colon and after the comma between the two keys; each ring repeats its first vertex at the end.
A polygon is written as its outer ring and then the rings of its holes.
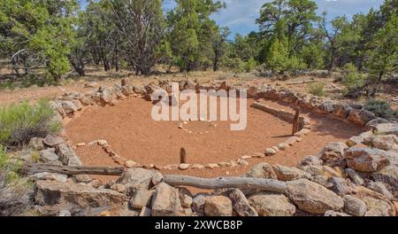
{"type": "MultiPolygon", "coordinates": [[[[241,178],[276,183],[261,190],[239,185],[191,194],[157,170],[128,168],[103,184],[88,175],[29,175],[34,189],[24,202],[42,215],[394,216],[398,212],[398,124],[378,124],[347,143],[329,143],[295,168],[257,164],[241,178]]],[[[80,165],[58,136],[33,138],[40,161],[80,165]]],[[[32,160],[32,154],[20,156],[32,160]]],[[[5,208],[3,214],[7,214],[5,208]]]]}

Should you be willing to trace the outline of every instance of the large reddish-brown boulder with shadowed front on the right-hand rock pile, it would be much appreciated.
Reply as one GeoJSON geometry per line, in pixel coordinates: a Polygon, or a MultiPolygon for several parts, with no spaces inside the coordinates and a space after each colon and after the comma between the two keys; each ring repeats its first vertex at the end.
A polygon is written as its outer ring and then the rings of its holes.
{"type": "Polygon", "coordinates": [[[348,168],[361,172],[375,172],[386,167],[390,162],[386,153],[368,147],[351,147],[344,153],[348,168]]]}

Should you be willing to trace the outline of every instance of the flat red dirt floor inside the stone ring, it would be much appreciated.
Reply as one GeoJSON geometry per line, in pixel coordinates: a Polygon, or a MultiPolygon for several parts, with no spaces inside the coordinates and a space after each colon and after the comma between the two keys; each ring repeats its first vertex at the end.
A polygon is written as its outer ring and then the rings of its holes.
{"type": "MultiPolygon", "coordinates": [[[[180,147],[188,154],[188,163],[217,163],[237,160],[243,155],[264,152],[267,147],[283,142],[291,132],[291,124],[280,121],[269,113],[249,107],[248,127],[243,131],[230,131],[229,121],[214,121],[217,127],[208,121],[189,121],[184,124],[188,133],[178,129],[180,121],[153,121],[150,112],[152,104],[141,98],[129,98],[114,106],[88,107],[65,122],[65,135],[73,144],[88,143],[96,139],[105,139],[114,152],[126,159],[149,165],[165,166],[180,162],[180,147]],[[199,134],[202,132],[202,134],[199,134]],[[205,133],[207,132],[207,133],[205,133]]],[[[261,101],[267,105],[289,109],[272,101],[261,101]]],[[[350,136],[356,136],[364,129],[331,117],[302,113],[309,117],[312,131],[303,136],[302,141],[285,151],[262,159],[251,159],[248,166],[236,168],[188,169],[185,171],[161,171],[163,174],[194,175],[215,177],[221,175],[239,176],[260,162],[272,165],[295,166],[304,156],[316,155],[327,142],[345,142],[350,136]],[[343,129],[343,130],[342,130],[343,129]]],[[[95,146],[78,147],[80,159],[87,166],[118,166],[103,150],[95,146]]],[[[102,180],[112,177],[100,176],[102,180]]]]}

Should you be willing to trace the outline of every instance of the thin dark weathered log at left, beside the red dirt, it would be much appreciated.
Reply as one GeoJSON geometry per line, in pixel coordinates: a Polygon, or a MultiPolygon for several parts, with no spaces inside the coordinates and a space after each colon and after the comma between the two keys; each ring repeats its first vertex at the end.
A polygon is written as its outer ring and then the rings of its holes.
{"type": "Polygon", "coordinates": [[[123,171],[124,168],[59,166],[42,163],[24,164],[21,170],[26,175],[42,172],[62,175],[122,175],[123,171]]]}

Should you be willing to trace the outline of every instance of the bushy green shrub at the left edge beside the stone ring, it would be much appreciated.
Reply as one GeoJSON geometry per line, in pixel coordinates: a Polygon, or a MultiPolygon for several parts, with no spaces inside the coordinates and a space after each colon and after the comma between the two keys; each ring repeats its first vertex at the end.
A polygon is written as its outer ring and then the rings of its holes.
{"type": "Polygon", "coordinates": [[[21,146],[32,137],[57,132],[61,125],[54,121],[55,111],[47,100],[31,105],[27,101],[0,107],[0,144],[21,146]]]}

